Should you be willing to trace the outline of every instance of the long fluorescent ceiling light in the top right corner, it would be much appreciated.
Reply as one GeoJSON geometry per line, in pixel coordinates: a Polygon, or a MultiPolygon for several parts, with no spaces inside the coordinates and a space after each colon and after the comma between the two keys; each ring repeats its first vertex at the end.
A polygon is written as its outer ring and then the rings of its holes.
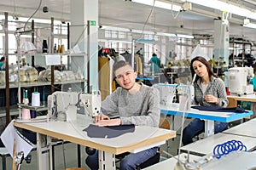
{"type": "Polygon", "coordinates": [[[215,8],[215,9],[218,9],[220,11],[226,11],[226,12],[229,12],[231,14],[237,14],[237,15],[240,15],[240,16],[244,16],[244,17],[247,17],[247,18],[251,18],[251,19],[254,19],[256,20],[256,13],[245,8],[245,7],[242,7],[242,6],[237,6],[232,3],[224,3],[220,0],[188,0],[188,2],[190,3],[196,3],[196,4],[199,4],[201,6],[205,6],[205,7],[208,7],[208,8],[215,8]]]}

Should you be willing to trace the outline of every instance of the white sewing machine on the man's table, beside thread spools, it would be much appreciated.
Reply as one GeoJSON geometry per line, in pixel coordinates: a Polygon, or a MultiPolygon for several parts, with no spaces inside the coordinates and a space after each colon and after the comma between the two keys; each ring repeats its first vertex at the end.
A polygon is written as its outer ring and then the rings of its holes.
{"type": "Polygon", "coordinates": [[[78,107],[84,107],[88,116],[96,116],[101,111],[101,94],[81,94],[77,92],[57,91],[48,96],[48,117],[60,121],[77,119],[78,107]]]}

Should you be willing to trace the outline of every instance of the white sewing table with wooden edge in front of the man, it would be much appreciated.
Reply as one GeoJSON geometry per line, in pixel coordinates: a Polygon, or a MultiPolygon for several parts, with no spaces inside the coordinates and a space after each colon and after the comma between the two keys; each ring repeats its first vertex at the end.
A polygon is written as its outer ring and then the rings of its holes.
{"type": "MultiPolygon", "coordinates": [[[[37,133],[38,170],[45,170],[42,161],[42,137],[47,136],[46,144],[51,156],[50,137],[63,139],[74,144],[81,144],[99,150],[99,168],[115,169],[115,156],[126,151],[138,152],[148,148],[165,144],[167,139],[176,137],[176,132],[161,129],[158,127],[136,126],[133,133],[125,133],[112,139],[90,138],[83,132],[85,127],[92,123],[88,116],[78,116],[73,122],[15,122],[15,127],[21,127],[37,133]],[[102,159],[104,157],[105,159],[102,159]]],[[[52,169],[52,162],[49,158],[49,168],[52,169]]]]}

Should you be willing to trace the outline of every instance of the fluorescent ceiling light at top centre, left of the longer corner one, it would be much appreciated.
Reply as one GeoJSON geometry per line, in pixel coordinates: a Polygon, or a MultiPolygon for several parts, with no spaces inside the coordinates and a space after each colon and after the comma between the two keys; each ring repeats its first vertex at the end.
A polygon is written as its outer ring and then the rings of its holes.
{"type": "Polygon", "coordinates": [[[174,10],[174,11],[180,11],[182,9],[178,5],[175,5],[172,3],[164,3],[164,2],[157,1],[157,0],[155,2],[154,2],[154,0],[132,0],[131,2],[143,3],[143,4],[149,5],[149,6],[152,6],[154,4],[154,7],[166,8],[166,9],[174,10]]]}

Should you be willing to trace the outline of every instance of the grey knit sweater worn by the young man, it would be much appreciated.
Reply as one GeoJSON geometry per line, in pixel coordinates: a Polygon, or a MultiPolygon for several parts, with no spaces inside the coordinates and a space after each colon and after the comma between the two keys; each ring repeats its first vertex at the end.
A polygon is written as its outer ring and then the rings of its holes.
{"type": "Polygon", "coordinates": [[[158,127],[160,122],[160,94],[157,88],[142,87],[137,94],[117,88],[102,101],[102,113],[118,113],[121,124],[158,127]]]}

